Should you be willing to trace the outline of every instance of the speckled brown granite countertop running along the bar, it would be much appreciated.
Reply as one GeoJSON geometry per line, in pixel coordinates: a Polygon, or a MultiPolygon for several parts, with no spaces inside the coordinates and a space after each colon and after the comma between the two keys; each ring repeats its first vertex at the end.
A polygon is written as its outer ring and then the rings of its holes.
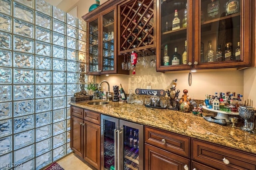
{"type": "Polygon", "coordinates": [[[112,101],[107,105],[87,103],[70,103],[70,105],[256,154],[256,135],[240,130],[239,127],[232,128],[211,123],[192,113],[148,108],[144,105],[112,101]]]}

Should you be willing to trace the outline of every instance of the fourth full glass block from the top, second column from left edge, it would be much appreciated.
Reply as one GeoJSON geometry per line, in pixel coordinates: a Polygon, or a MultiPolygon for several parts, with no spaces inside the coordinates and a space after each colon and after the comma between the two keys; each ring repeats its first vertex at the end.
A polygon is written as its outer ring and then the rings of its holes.
{"type": "Polygon", "coordinates": [[[34,55],[14,52],[14,67],[34,68],[34,55]]]}

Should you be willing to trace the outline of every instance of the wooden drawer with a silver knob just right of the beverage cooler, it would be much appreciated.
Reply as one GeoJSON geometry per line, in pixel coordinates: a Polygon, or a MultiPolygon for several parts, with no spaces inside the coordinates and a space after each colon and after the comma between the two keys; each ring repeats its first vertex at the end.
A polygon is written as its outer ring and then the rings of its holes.
{"type": "Polygon", "coordinates": [[[145,126],[145,142],[190,157],[190,137],[145,126]]]}

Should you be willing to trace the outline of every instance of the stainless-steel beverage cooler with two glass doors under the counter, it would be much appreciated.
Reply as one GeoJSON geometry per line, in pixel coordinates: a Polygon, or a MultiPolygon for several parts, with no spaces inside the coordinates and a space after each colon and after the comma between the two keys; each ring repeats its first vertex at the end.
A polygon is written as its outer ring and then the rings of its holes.
{"type": "Polygon", "coordinates": [[[143,125],[102,115],[102,170],[143,170],[143,145],[143,125]]]}

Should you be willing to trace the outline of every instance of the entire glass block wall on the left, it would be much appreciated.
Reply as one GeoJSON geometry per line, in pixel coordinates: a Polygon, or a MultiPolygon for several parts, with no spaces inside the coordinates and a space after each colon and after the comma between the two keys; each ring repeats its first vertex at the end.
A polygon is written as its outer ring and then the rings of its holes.
{"type": "Polygon", "coordinates": [[[40,169],[72,152],[68,103],[87,82],[85,31],[44,1],[0,0],[0,169],[40,169]]]}

